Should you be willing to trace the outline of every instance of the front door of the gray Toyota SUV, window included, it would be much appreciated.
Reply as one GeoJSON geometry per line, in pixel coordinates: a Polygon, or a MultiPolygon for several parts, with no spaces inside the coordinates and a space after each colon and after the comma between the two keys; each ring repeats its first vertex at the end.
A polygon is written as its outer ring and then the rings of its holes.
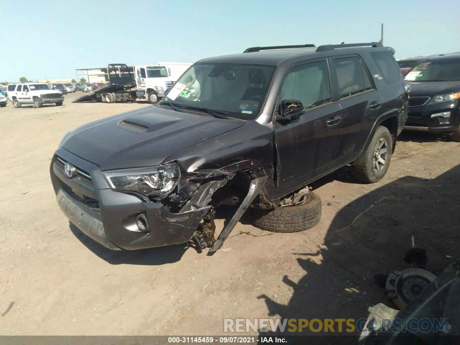
{"type": "Polygon", "coordinates": [[[302,187],[335,166],[341,119],[340,106],[332,102],[331,95],[326,59],[296,64],[286,72],[277,104],[285,99],[300,101],[305,114],[274,125],[279,195],[302,187]]]}

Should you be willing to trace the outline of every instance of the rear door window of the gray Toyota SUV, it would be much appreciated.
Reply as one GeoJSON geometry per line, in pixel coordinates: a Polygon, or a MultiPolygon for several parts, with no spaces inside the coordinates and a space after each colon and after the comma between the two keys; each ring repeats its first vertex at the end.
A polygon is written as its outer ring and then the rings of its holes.
{"type": "Polygon", "coordinates": [[[333,63],[337,74],[340,98],[366,91],[363,68],[359,57],[334,59],[333,63]]]}

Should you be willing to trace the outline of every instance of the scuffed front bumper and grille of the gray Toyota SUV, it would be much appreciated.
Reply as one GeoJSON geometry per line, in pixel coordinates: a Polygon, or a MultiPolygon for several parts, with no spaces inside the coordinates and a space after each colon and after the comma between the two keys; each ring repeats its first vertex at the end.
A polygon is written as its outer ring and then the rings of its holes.
{"type": "Polygon", "coordinates": [[[142,249],[188,242],[209,207],[170,213],[160,202],[111,190],[100,168],[60,148],[52,158],[50,174],[57,203],[69,221],[109,249],[142,249]],[[68,178],[63,161],[77,167],[68,178]],[[144,214],[149,232],[142,232],[136,217],[144,214]]]}

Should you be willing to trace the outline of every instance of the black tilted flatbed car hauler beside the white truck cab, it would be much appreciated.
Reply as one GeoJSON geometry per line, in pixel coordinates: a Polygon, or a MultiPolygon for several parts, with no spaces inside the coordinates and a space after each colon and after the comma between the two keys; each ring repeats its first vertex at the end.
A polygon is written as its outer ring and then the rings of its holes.
{"type": "Polygon", "coordinates": [[[136,86],[134,71],[124,63],[111,63],[107,67],[109,85],[93,90],[73,101],[79,102],[106,102],[117,101],[134,102],[136,100],[136,86]]]}

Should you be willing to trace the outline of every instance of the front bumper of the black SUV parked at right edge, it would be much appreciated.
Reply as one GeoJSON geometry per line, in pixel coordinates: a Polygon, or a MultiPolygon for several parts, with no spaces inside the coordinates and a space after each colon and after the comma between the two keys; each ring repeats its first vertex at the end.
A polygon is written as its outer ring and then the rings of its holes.
{"type": "Polygon", "coordinates": [[[436,133],[454,132],[459,128],[460,110],[458,100],[439,104],[409,107],[409,114],[404,129],[436,133]],[[447,123],[441,123],[441,117],[431,117],[433,114],[450,112],[447,123]]]}

